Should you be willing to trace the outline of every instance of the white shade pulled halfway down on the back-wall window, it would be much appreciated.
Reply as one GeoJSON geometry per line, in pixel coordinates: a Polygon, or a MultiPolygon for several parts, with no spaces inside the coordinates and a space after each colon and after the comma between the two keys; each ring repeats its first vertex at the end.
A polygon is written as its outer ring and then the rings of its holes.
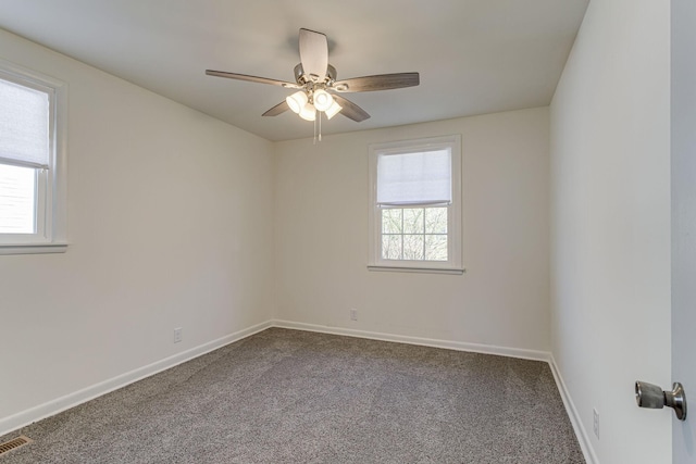
{"type": "Polygon", "coordinates": [[[449,204],[451,149],[377,155],[378,205],[449,204]]]}

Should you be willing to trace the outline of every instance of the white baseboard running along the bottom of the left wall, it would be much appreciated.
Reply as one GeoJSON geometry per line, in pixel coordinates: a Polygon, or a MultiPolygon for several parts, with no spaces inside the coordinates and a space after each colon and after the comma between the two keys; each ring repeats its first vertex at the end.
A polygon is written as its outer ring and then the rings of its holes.
{"type": "Polygon", "coordinates": [[[185,363],[186,361],[190,361],[195,358],[209,353],[226,344],[233,343],[237,340],[241,340],[243,338],[249,337],[261,330],[265,330],[266,328],[272,326],[273,323],[271,321],[257,324],[234,334],[226,335],[216,340],[209,341],[208,343],[191,348],[190,350],[174,354],[173,356],[165,358],[152,364],[138,367],[134,371],[119,375],[111,379],[92,385],[91,387],[87,387],[79,391],[69,393],[64,397],[58,398],[44,404],[39,404],[38,406],[22,411],[9,417],[3,417],[0,419],[0,436],[25,427],[42,418],[55,415],[89,400],[94,400],[95,398],[107,394],[113,390],[117,390],[119,388],[123,388],[146,377],[150,377],[151,375],[185,363]]]}

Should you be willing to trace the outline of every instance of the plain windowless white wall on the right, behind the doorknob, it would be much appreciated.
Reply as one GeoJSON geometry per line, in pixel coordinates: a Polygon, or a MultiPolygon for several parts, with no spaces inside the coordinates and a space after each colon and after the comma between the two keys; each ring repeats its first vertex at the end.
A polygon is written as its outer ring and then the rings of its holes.
{"type": "Polygon", "coordinates": [[[671,459],[671,414],[633,394],[671,386],[669,14],[591,2],[550,109],[552,353],[609,464],[671,459]]]}

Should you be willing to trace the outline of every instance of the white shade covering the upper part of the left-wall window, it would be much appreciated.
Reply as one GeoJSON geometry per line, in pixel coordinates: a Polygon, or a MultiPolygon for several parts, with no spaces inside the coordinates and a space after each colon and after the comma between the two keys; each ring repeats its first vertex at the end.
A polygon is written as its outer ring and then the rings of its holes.
{"type": "Polygon", "coordinates": [[[0,163],[49,167],[49,95],[0,79],[0,163]]]}

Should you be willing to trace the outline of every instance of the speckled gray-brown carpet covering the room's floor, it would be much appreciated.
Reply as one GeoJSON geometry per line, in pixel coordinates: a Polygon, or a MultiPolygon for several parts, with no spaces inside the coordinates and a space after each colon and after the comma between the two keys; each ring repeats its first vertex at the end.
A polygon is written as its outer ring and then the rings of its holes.
{"type": "Polygon", "coordinates": [[[546,363],[272,328],[38,422],[5,463],[584,463],[546,363]]]}

